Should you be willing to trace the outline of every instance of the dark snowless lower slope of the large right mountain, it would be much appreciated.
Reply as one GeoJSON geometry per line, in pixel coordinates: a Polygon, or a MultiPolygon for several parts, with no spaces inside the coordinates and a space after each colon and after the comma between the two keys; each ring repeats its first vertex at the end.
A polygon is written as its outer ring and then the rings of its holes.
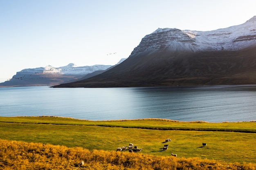
{"type": "Polygon", "coordinates": [[[256,47],[239,51],[141,53],[95,77],[54,87],[218,84],[256,84],[256,47]]]}

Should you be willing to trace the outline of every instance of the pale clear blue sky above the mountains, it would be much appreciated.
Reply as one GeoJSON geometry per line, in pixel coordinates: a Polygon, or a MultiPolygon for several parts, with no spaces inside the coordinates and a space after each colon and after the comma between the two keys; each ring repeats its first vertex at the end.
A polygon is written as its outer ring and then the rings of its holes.
{"type": "Polygon", "coordinates": [[[255,7],[255,0],[0,0],[0,82],[25,68],[114,65],[158,28],[226,28],[252,18],[255,7]]]}

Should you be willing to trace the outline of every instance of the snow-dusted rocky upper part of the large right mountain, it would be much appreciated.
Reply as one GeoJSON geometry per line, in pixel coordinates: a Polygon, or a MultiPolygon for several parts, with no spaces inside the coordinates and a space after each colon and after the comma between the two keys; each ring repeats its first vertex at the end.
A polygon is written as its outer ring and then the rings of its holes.
{"type": "Polygon", "coordinates": [[[220,51],[238,50],[256,45],[256,16],[247,22],[213,31],[158,28],[142,38],[131,55],[155,50],[220,51]]]}

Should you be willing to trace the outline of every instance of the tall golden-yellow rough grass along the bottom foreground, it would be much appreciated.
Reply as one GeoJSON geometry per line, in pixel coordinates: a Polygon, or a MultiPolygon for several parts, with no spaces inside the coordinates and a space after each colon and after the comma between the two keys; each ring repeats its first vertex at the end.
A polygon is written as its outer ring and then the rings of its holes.
{"type": "Polygon", "coordinates": [[[4,170],[255,170],[253,163],[153,156],[141,153],[88,150],[0,139],[4,170]],[[84,165],[79,165],[84,161],[84,165]]]}

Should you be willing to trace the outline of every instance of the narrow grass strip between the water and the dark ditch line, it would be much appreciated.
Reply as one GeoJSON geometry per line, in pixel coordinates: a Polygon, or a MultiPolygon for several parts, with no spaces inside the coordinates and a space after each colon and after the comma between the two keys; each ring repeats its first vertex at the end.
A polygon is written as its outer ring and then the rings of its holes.
{"type": "Polygon", "coordinates": [[[198,130],[256,133],[256,121],[209,123],[204,121],[183,122],[168,119],[88,121],[63,117],[0,117],[0,122],[23,124],[106,126],[153,130],[198,130]]]}

